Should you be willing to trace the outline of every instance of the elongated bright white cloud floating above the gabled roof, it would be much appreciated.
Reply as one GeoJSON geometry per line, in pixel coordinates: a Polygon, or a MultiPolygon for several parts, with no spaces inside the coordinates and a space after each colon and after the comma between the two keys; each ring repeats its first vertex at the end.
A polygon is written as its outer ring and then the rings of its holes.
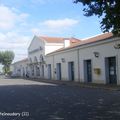
{"type": "Polygon", "coordinates": [[[58,20],[46,20],[42,24],[51,29],[64,29],[78,24],[78,20],[65,18],[58,20]]]}

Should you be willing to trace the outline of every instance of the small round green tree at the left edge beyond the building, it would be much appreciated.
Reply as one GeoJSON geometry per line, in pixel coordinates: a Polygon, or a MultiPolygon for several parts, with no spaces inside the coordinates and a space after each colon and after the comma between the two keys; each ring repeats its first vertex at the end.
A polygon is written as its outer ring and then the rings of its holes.
{"type": "Polygon", "coordinates": [[[5,74],[10,72],[10,65],[14,59],[14,53],[12,51],[0,52],[0,63],[2,63],[3,71],[5,74]]]}

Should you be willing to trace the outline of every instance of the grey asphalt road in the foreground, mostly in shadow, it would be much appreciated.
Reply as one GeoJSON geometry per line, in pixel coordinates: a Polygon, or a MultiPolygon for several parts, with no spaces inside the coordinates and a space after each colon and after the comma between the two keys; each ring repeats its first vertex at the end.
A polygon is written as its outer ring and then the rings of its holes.
{"type": "Polygon", "coordinates": [[[120,120],[120,91],[0,78],[0,120],[120,120]]]}

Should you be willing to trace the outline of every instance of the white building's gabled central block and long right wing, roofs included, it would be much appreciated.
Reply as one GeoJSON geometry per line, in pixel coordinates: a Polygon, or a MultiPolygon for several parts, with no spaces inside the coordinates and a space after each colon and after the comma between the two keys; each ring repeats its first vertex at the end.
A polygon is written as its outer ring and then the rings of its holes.
{"type": "Polygon", "coordinates": [[[120,38],[111,33],[84,41],[35,36],[27,68],[34,78],[120,85],[120,38]]]}

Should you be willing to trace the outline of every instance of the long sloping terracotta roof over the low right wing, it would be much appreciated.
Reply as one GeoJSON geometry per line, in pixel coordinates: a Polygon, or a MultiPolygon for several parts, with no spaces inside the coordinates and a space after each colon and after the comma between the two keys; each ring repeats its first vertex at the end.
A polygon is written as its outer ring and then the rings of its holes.
{"type": "MultiPolygon", "coordinates": [[[[77,47],[77,46],[94,43],[94,42],[97,42],[97,41],[102,41],[102,40],[105,40],[105,39],[108,39],[108,38],[111,38],[111,37],[113,37],[112,33],[104,33],[104,34],[101,34],[101,35],[98,35],[98,36],[95,36],[95,37],[91,37],[91,38],[88,38],[88,39],[84,39],[82,41],[74,43],[67,48],[60,48],[60,49],[58,49],[58,50],[56,50],[52,53],[59,52],[59,51],[64,51],[64,50],[67,50],[67,49],[71,49],[71,48],[74,48],[74,47],[77,47]]],[[[49,54],[52,54],[52,53],[49,53],[49,54]]]]}

